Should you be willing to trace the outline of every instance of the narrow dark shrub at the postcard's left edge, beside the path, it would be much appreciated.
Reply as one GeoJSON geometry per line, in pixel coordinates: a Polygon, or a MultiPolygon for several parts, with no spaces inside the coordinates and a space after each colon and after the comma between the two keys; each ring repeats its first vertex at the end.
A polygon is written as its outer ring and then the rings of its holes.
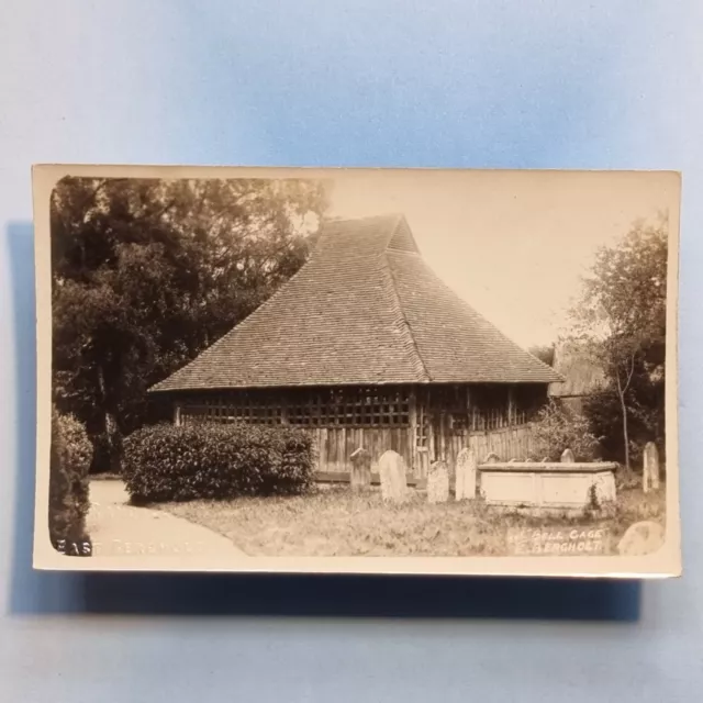
{"type": "Polygon", "coordinates": [[[48,524],[55,549],[75,556],[90,555],[86,534],[88,470],[92,445],[85,427],[72,416],[52,412],[48,524]]]}

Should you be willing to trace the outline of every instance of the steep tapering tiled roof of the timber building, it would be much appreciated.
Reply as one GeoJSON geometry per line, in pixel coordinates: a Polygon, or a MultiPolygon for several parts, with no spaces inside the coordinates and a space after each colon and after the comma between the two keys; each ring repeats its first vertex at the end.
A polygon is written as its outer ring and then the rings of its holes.
{"type": "Polygon", "coordinates": [[[402,215],[333,220],[308,264],[152,391],[560,381],[423,261],[402,215]]]}

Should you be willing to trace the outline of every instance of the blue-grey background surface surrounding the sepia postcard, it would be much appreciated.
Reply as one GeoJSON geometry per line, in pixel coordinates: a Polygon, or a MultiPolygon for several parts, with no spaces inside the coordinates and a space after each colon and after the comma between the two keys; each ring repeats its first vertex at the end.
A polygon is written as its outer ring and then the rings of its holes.
{"type": "Polygon", "coordinates": [[[0,698],[699,700],[702,27],[698,0],[4,2],[0,698]],[[682,170],[684,577],[32,572],[37,161],[682,170]]]}

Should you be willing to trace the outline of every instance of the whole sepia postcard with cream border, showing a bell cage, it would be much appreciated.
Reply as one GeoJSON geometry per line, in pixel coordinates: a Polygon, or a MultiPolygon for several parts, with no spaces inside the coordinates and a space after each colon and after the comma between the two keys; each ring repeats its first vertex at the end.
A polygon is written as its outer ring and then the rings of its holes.
{"type": "Polygon", "coordinates": [[[33,185],[35,568],[680,574],[679,174],[33,185]]]}

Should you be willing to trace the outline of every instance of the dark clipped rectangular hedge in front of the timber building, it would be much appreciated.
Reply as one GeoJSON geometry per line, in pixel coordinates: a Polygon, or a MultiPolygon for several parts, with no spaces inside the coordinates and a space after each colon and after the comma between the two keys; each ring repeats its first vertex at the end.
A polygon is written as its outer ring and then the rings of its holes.
{"type": "Polygon", "coordinates": [[[313,483],[312,438],[292,427],[160,424],[123,448],[122,478],[137,504],[300,494],[313,483]]]}

